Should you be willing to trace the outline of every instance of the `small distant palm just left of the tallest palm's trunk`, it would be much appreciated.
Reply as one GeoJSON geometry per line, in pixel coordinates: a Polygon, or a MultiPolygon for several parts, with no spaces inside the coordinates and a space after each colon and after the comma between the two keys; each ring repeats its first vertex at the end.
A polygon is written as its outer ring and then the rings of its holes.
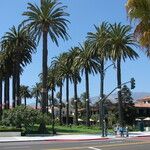
{"type": "Polygon", "coordinates": [[[41,91],[41,83],[36,83],[35,86],[32,88],[31,92],[31,95],[36,98],[35,109],[38,108],[40,91],[41,91]]]}

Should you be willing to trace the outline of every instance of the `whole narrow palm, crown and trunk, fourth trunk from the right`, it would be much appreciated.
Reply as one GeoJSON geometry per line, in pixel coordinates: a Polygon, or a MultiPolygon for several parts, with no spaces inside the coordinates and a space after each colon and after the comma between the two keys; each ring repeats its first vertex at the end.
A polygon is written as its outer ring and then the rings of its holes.
{"type": "Polygon", "coordinates": [[[79,74],[79,68],[74,65],[74,60],[78,57],[80,50],[78,47],[71,48],[69,51],[69,57],[71,59],[71,78],[74,83],[74,103],[75,103],[75,124],[78,125],[78,92],[77,84],[81,82],[81,77],[79,74]]]}

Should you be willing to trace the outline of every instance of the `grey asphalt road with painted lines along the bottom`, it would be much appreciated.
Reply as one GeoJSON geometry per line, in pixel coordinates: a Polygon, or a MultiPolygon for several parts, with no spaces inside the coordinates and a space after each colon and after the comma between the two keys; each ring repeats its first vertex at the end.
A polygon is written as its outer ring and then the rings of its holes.
{"type": "Polygon", "coordinates": [[[150,150],[149,139],[78,142],[12,142],[0,143],[0,150],[150,150]]]}

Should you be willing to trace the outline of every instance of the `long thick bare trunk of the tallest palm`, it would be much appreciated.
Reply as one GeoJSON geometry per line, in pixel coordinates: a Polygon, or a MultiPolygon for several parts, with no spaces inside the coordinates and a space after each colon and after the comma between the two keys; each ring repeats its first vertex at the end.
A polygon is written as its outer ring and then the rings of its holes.
{"type": "Polygon", "coordinates": [[[42,112],[46,113],[46,104],[47,104],[47,31],[43,31],[43,59],[42,59],[42,69],[43,69],[43,78],[42,78],[42,112]]]}

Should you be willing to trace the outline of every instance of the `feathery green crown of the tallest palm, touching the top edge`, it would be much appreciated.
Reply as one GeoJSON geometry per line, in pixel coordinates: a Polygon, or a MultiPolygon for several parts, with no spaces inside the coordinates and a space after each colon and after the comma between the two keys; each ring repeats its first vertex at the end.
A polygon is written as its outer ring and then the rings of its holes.
{"type": "Polygon", "coordinates": [[[45,0],[42,7],[28,3],[28,11],[23,13],[27,19],[23,21],[23,24],[27,23],[38,40],[42,32],[47,31],[51,40],[58,45],[58,38],[68,39],[66,28],[69,22],[65,19],[66,16],[69,16],[64,12],[66,6],[60,5],[61,3],[58,3],[57,0],[45,0]]]}

